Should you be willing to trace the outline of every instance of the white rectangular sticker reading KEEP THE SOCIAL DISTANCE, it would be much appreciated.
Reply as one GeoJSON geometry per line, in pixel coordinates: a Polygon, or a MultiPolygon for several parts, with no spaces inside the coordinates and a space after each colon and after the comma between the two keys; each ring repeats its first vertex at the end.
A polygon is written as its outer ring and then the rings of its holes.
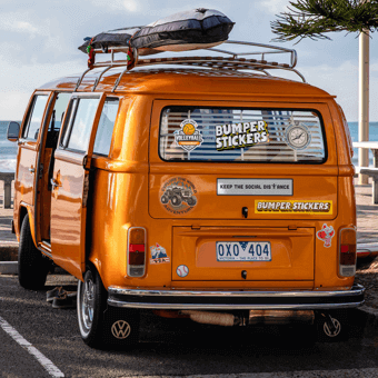
{"type": "Polygon", "coordinates": [[[217,179],[218,196],[292,196],[291,179],[217,179]]]}

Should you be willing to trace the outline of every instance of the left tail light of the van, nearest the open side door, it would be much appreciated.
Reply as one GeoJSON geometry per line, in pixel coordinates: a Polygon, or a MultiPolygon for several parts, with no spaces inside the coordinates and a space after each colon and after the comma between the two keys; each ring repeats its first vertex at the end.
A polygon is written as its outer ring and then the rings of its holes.
{"type": "Polygon", "coordinates": [[[127,272],[129,277],[142,277],[146,272],[146,229],[130,227],[128,231],[127,272]]]}

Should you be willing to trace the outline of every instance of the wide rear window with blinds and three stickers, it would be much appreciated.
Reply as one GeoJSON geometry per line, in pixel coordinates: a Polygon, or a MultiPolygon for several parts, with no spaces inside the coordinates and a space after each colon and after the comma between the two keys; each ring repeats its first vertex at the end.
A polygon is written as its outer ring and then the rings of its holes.
{"type": "Polygon", "coordinates": [[[307,162],[327,158],[315,110],[167,107],[159,153],[167,161],[307,162]]]}

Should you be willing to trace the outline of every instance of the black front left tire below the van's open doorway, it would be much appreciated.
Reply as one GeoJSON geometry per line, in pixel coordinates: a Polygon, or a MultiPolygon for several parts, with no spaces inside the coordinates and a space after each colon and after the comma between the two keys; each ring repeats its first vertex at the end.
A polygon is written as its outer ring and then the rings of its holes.
{"type": "Polygon", "coordinates": [[[43,289],[52,261],[34,246],[31,237],[29,217],[22,220],[18,256],[19,282],[24,289],[43,289]]]}

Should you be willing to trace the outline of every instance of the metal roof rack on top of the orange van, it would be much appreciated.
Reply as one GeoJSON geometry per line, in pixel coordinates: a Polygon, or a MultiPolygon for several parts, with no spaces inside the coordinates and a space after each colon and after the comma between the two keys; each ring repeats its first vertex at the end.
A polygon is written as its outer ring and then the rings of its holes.
{"type": "MultiPolygon", "coordinates": [[[[241,41],[225,41],[221,47],[225,44],[232,46],[233,49],[236,48],[243,48],[243,47],[253,47],[262,49],[261,51],[247,51],[247,52],[238,52],[220,49],[218,47],[216,48],[207,48],[202,49],[206,51],[210,51],[211,53],[217,53],[217,56],[209,56],[209,57],[201,57],[201,56],[183,56],[183,57],[167,57],[167,58],[143,58],[140,59],[138,57],[138,51],[135,49],[135,60],[136,64],[135,67],[146,67],[146,66],[156,66],[156,64],[178,64],[178,66],[192,66],[192,67],[205,67],[210,69],[217,69],[217,70],[227,70],[227,71],[237,71],[237,70],[252,70],[252,71],[259,71],[265,73],[266,76],[271,76],[267,70],[286,70],[295,72],[300,77],[300,79],[306,82],[305,77],[298,72],[295,67],[297,64],[297,51],[294,49],[286,49],[281,47],[276,47],[271,44],[262,44],[262,43],[253,43],[253,42],[241,42],[241,41]],[[219,56],[219,53],[223,56],[219,56]],[[288,63],[279,63],[277,61],[268,61],[266,60],[267,56],[269,54],[285,54],[287,58],[289,56],[289,62],[288,63]],[[226,57],[225,57],[226,56],[226,57]],[[260,59],[247,59],[246,56],[257,56],[260,59]]],[[[116,83],[112,88],[112,92],[116,91],[119,82],[121,81],[123,74],[129,71],[129,61],[127,59],[125,60],[116,60],[115,53],[123,52],[128,53],[129,48],[128,47],[115,47],[109,48],[108,50],[103,51],[102,49],[94,49],[94,57],[98,53],[110,53],[110,60],[109,61],[99,61],[96,62],[88,68],[82,76],[79,78],[74,91],[78,90],[80,87],[84,76],[91,71],[94,68],[105,68],[101,72],[99,72],[99,76],[96,78],[92,91],[96,90],[98,83],[101,80],[101,77],[103,73],[106,73],[108,70],[112,68],[119,68],[125,67],[125,70],[119,74],[118,79],[116,80],[116,83]]],[[[193,51],[193,50],[192,50],[193,51]]],[[[198,50],[197,50],[198,51],[198,50]]],[[[187,51],[189,52],[189,51],[187,51]]]]}

